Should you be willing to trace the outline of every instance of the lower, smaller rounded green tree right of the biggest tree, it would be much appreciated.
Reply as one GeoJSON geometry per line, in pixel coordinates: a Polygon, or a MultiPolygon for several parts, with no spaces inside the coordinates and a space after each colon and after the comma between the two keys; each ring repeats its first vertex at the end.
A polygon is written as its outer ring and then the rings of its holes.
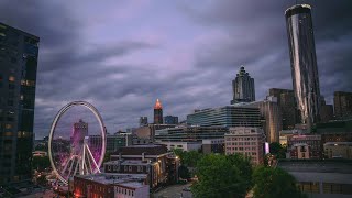
{"type": "Polygon", "coordinates": [[[260,166],[253,173],[254,198],[306,197],[296,186],[296,179],[286,170],[260,166]]]}

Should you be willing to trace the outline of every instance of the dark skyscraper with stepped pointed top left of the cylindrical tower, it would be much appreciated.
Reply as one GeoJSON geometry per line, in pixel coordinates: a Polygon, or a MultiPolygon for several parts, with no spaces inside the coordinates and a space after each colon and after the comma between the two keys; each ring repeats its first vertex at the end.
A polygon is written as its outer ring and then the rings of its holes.
{"type": "Polygon", "coordinates": [[[255,101],[254,78],[251,78],[244,67],[240,68],[239,74],[232,80],[232,89],[233,100],[231,100],[231,103],[255,101]]]}

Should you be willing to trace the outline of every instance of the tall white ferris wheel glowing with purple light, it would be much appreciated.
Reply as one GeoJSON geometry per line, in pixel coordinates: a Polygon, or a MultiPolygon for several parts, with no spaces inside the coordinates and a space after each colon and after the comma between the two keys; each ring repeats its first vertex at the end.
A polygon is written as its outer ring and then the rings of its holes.
{"type": "Polygon", "coordinates": [[[56,177],[68,184],[74,175],[100,173],[106,153],[106,130],[98,110],[86,101],[73,101],[64,106],[56,114],[48,136],[48,156],[56,177]],[[88,135],[88,123],[82,120],[74,123],[73,131],[56,135],[58,121],[73,107],[84,107],[94,113],[99,122],[99,132],[88,135]],[[91,140],[94,139],[94,141],[91,140]]]}

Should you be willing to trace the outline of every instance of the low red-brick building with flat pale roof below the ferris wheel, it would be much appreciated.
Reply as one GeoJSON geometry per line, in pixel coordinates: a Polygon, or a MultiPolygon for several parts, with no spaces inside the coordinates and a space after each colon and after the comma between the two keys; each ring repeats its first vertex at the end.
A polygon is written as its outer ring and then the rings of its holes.
{"type": "Polygon", "coordinates": [[[74,197],[148,198],[146,174],[75,175],[74,197]]]}

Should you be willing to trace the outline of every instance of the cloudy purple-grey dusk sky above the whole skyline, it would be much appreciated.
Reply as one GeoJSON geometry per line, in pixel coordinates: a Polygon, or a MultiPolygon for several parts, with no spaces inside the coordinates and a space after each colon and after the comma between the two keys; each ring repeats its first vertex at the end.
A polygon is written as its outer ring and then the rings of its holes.
{"type": "MultiPolygon", "coordinates": [[[[292,89],[285,10],[294,0],[1,0],[0,21],[37,35],[36,139],[57,111],[87,100],[110,133],[164,116],[226,106],[244,65],[256,100],[292,89]]],[[[312,6],[321,94],[352,91],[352,1],[312,6]]]]}

